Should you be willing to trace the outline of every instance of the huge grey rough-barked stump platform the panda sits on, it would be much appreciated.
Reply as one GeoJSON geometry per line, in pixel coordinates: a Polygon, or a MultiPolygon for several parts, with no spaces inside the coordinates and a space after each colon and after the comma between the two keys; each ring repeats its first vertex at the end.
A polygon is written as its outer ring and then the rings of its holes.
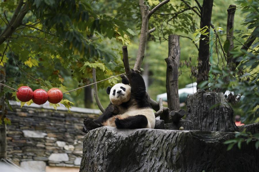
{"type": "Polygon", "coordinates": [[[255,141],[226,151],[234,135],[105,126],[85,135],[80,172],[259,171],[255,141]]]}

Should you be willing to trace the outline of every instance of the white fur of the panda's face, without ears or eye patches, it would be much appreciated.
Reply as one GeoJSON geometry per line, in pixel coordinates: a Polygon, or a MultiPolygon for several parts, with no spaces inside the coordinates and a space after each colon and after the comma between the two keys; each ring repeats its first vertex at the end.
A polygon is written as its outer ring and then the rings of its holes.
{"type": "Polygon", "coordinates": [[[114,105],[120,105],[121,103],[125,103],[125,102],[129,101],[130,93],[131,93],[130,91],[131,91],[131,87],[129,85],[122,84],[122,83],[114,85],[111,88],[111,92],[110,92],[110,96],[109,96],[111,103],[114,105]],[[121,89],[121,87],[124,87],[126,90],[123,91],[121,89]],[[114,89],[116,90],[115,95],[113,95],[114,89]],[[121,90],[121,93],[117,93],[117,91],[119,91],[119,90],[121,90]]]}

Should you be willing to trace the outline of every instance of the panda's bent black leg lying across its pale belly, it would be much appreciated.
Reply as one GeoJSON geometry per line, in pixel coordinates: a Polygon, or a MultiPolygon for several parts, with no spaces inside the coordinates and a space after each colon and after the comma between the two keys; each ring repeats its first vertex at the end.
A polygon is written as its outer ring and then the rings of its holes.
{"type": "Polygon", "coordinates": [[[125,119],[115,118],[117,128],[146,128],[148,120],[144,115],[129,116],[125,119]]]}

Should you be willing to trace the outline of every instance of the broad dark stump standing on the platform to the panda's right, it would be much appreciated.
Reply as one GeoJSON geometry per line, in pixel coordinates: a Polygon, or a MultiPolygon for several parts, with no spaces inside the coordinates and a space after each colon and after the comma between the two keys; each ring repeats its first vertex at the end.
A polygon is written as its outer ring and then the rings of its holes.
{"type": "Polygon", "coordinates": [[[234,132],[233,108],[226,102],[223,93],[197,90],[187,99],[187,113],[184,120],[186,130],[234,132]]]}

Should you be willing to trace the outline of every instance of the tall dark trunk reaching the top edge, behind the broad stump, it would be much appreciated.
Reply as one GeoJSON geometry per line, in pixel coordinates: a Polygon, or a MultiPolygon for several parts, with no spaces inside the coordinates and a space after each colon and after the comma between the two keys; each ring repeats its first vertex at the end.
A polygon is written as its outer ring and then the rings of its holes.
{"type": "MultiPolygon", "coordinates": [[[[207,35],[201,35],[199,42],[199,57],[198,57],[198,77],[197,77],[197,89],[202,81],[208,81],[209,79],[209,57],[210,57],[210,22],[212,14],[213,0],[203,0],[201,8],[201,23],[200,27],[208,26],[205,33],[207,35]]],[[[207,88],[207,87],[206,87],[207,88]]]]}

